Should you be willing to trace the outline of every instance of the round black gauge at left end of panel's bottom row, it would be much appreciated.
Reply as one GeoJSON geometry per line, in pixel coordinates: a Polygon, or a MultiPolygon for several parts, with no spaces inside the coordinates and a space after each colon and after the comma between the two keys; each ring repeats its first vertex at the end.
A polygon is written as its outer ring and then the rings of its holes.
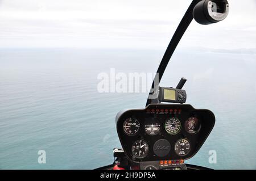
{"type": "Polygon", "coordinates": [[[136,158],[144,158],[148,154],[148,144],[144,140],[137,140],[131,146],[131,152],[136,158]]]}

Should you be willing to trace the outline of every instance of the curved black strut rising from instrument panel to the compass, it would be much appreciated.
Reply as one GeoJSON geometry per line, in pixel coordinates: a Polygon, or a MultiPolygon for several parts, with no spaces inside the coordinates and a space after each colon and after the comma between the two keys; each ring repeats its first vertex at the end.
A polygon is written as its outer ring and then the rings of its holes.
{"type": "MultiPolygon", "coordinates": [[[[180,41],[181,37],[183,36],[183,34],[187,30],[189,24],[193,20],[193,9],[194,9],[194,7],[200,1],[201,0],[193,0],[191,2],[191,5],[188,7],[188,10],[185,12],[185,15],[181,19],[181,22],[180,22],[179,26],[177,27],[177,29],[174,33],[174,36],[172,36],[172,39],[171,39],[171,41],[170,41],[170,43],[169,43],[169,45],[166,49],[166,52],[164,53],[162,61],[160,62],[158,70],[156,71],[157,74],[156,74],[155,79],[158,78],[158,83],[160,83],[160,81],[163,77],[164,70],[166,70],[168,62],[170,61],[170,59],[172,57],[172,54],[174,53],[175,48],[177,47],[177,44],[179,44],[179,41],[180,41]]],[[[154,84],[155,84],[155,81],[153,81],[153,83],[152,83],[150,95],[154,94],[155,91],[156,91],[155,90],[156,87],[155,87],[154,84]]],[[[158,85],[157,85],[157,87],[158,87],[158,85]]],[[[152,99],[150,98],[150,95],[148,95],[146,106],[152,102],[152,99]]]]}

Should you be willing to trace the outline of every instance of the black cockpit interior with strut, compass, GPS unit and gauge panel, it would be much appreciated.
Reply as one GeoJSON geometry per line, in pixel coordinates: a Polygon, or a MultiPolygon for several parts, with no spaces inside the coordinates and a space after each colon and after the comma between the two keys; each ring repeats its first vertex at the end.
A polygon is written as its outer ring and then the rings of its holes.
{"type": "Polygon", "coordinates": [[[195,19],[204,25],[217,23],[224,20],[228,12],[226,0],[192,1],[156,71],[146,108],[117,114],[115,122],[122,149],[114,149],[113,167],[105,169],[204,169],[188,167],[184,160],[192,158],[207,140],[215,123],[213,112],[184,104],[187,100],[187,93],[182,89],[185,78],[180,79],[176,88],[159,87],[159,82],[191,21],[195,19]]]}

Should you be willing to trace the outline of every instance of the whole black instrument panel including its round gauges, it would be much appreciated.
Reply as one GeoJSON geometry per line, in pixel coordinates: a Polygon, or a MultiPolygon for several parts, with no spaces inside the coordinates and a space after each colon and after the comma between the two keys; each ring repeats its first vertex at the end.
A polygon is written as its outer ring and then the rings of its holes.
{"type": "Polygon", "coordinates": [[[212,131],[215,117],[189,104],[150,104],[119,112],[116,123],[127,158],[145,162],[193,157],[212,131]]]}

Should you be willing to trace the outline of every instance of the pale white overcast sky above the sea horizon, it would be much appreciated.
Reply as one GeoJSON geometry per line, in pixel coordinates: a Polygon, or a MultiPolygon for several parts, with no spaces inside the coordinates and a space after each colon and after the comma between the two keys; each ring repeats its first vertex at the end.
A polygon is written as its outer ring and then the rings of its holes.
{"type": "MultiPolygon", "coordinates": [[[[191,0],[0,0],[0,48],[166,48],[191,0]]],[[[180,47],[256,48],[256,0],[223,22],[192,22],[180,47]]]]}

